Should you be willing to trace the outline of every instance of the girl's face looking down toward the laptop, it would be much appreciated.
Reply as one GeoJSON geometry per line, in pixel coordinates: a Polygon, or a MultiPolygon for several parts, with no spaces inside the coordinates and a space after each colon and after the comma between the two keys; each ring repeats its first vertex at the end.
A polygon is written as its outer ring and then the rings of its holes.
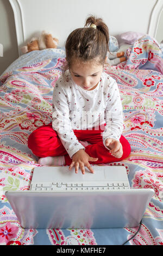
{"type": "Polygon", "coordinates": [[[103,65],[97,64],[96,61],[74,61],[70,69],[74,83],[84,90],[93,90],[97,87],[102,71],[103,65]]]}

